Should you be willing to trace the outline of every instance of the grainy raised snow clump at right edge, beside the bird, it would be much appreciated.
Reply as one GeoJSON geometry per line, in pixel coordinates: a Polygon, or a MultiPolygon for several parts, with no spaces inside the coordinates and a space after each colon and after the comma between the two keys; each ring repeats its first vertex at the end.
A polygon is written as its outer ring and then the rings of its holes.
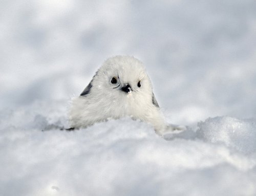
{"type": "Polygon", "coordinates": [[[232,117],[208,118],[199,122],[198,138],[212,143],[224,143],[242,153],[256,151],[256,121],[232,117]]]}

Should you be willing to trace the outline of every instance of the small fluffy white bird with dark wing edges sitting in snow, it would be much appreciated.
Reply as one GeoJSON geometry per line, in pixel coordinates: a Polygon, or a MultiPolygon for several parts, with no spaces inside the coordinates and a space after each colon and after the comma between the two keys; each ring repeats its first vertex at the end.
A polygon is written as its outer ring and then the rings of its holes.
{"type": "Polygon", "coordinates": [[[71,127],[130,116],[150,123],[162,135],[167,125],[141,61],[131,56],[107,59],[79,97],[72,100],[71,127]]]}

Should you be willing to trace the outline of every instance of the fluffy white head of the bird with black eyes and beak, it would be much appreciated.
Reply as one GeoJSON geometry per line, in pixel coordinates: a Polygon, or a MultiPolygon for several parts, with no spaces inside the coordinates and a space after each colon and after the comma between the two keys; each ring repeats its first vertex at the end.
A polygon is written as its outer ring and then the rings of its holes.
{"type": "Polygon", "coordinates": [[[131,56],[107,59],[98,70],[102,88],[120,96],[152,96],[152,84],[141,61],[131,56]]]}

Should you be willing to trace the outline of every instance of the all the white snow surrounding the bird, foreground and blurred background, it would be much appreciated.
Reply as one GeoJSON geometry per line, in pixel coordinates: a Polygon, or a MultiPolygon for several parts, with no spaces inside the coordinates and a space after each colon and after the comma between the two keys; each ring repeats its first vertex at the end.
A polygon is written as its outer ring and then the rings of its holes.
{"type": "Polygon", "coordinates": [[[256,195],[254,0],[3,0],[0,51],[0,195],[256,195]],[[188,130],[59,130],[117,54],[188,130]]]}

